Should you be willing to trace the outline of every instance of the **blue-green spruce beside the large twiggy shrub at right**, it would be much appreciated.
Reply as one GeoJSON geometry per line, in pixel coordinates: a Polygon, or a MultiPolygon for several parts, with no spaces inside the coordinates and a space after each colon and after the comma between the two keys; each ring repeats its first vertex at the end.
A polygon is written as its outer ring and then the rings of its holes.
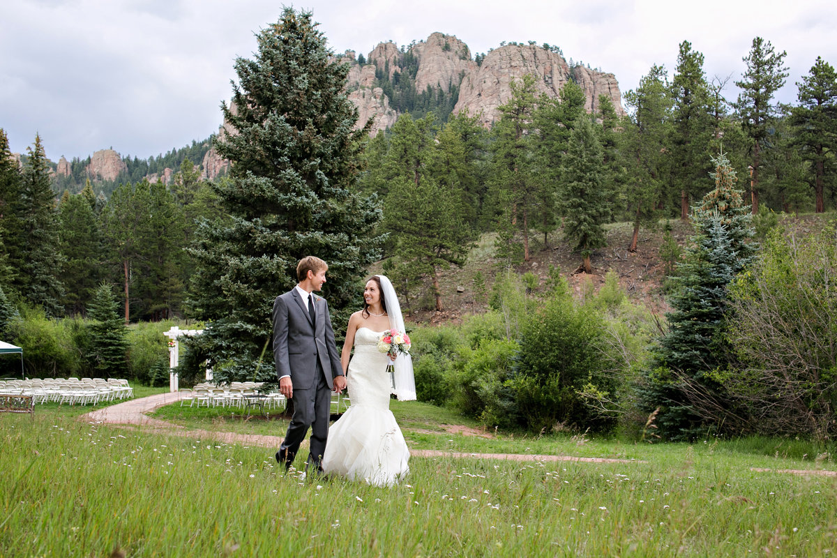
{"type": "Polygon", "coordinates": [[[752,261],[754,246],[748,242],[751,216],[734,186],[735,171],[723,153],[713,161],[715,189],[693,208],[695,236],[677,266],[669,328],[652,349],[640,397],[646,411],[660,409],[657,424],[670,439],[690,439],[706,427],[732,426],[735,419],[713,372],[726,364],[727,289],[752,261]]]}

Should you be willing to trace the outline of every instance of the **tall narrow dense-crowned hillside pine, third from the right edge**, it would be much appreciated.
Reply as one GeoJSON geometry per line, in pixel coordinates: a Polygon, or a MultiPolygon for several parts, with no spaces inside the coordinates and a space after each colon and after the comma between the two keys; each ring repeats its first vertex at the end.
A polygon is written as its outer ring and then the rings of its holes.
{"type": "Polygon", "coordinates": [[[671,82],[670,160],[671,178],[680,189],[680,218],[686,219],[692,199],[703,192],[711,167],[709,144],[712,134],[709,87],[703,72],[703,54],[691,49],[689,41],[680,43],[677,68],[671,82]]]}

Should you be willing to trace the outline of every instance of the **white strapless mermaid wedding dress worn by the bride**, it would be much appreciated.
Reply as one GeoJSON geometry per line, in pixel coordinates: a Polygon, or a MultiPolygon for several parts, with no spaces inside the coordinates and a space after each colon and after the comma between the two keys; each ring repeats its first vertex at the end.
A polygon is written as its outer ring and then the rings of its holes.
{"type": "Polygon", "coordinates": [[[381,335],[367,327],[355,332],[346,379],[352,404],[328,430],[322,468],[326,474],[391,486],[408,473],[410,453],[389,410],[389,357],[377,350],[381,335]]]}

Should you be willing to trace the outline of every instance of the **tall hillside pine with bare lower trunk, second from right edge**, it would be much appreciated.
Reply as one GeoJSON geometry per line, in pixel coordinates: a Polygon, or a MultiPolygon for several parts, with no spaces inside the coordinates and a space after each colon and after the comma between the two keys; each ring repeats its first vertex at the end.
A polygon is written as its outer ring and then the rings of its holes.
{"type": "Polygon", "coordinates": [[[752,212],[758,212],[759,171],[762,164],[762,151],[768,147],[768,136],[773,120],[778,113],[778,105],[773,105],[773,95],[782,88],[788,77],[788,68],[783,66],[786,53],[777,53],[770,41],[763,38],[752,39],[750,53],[743,58],[747,71],[736,85],[741,89],[735,104],[742,127],[750,139],[752,148],[752,177],[750,190],[752,212]]]}

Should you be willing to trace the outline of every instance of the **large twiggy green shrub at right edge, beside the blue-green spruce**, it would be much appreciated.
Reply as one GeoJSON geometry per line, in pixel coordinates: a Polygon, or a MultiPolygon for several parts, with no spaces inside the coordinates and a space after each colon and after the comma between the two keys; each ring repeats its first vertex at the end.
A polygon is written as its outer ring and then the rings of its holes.
{"type": "Polygon", "coordinates": [[[761,258],[730,288],[727,340],[738,358],[716,377],[767,435],[837,435],[837,234],[768,233],[761,258]]]}

